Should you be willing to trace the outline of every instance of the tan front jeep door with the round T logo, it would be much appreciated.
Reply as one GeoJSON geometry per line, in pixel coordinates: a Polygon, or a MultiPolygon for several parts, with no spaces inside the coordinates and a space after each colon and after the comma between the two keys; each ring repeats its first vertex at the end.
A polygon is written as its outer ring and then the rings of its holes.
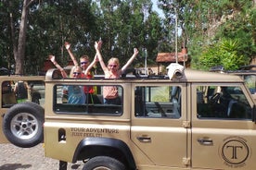
{"type": "Polygon", "coordinates": [[[256,169],[253,101],[243,84],[192,85],[193,169],[256,169]]]}

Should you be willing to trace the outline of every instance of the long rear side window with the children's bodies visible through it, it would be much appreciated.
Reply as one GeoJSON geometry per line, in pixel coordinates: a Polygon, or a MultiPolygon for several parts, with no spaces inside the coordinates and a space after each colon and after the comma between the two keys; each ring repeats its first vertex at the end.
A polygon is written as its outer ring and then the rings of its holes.
{"type": "Polygon", "coordinates": [[[56,114],[122,115],[122,86],[56,85],[53,109],[56,114]],[[106,103],[104,88],[114,88],[118,96],[106,103]]]}

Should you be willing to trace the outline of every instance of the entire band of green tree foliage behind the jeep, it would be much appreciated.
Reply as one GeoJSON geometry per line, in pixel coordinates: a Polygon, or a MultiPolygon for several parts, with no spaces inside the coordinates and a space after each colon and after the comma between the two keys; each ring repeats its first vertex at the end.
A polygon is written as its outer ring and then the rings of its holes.
{"type": "MultiPolygon", "coordinates": [[[[93,58],[94,42],[99,38],[103,40],[105,62],[117,56],[123,65],[137,47],[140,53],[131,67],[144,66],[144,49],[148,64],[156,64],[158,53],[174,51],[173,7],[182,30],[178,51],[182,46],[188,48],[193,68],[208,70],[224,65],[225,69],[236,69],[249,64],[256,55],[256,9],[252,2],[159,0],[166,17],[160,18],[152,11],[150,0],[34,1],[29,10],[25,72],[36,74],[50,54],[66,66],[70,57],[63,48],[65,41],[71,43],[77,59],[81,55],[93,58]]],[[[20,0],[0,2],[2,67],[15,64],[13,46],[18,41],[21,7],[20,0]],[[10,13],[15,42],[10,37],[10,13]]]]}

